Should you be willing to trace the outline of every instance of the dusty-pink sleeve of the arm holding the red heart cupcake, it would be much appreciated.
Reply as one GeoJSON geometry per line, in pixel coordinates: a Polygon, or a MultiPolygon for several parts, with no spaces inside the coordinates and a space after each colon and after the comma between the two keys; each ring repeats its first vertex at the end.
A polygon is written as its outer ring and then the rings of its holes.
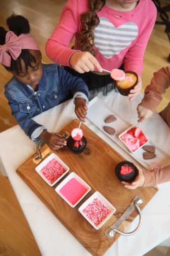
{"type": "Polygon", "coordinates": [[[143,170],[145,182],[143,187],[157,187],[157,184],[170,182],[170,165],[161,169],[143,170]]]}

